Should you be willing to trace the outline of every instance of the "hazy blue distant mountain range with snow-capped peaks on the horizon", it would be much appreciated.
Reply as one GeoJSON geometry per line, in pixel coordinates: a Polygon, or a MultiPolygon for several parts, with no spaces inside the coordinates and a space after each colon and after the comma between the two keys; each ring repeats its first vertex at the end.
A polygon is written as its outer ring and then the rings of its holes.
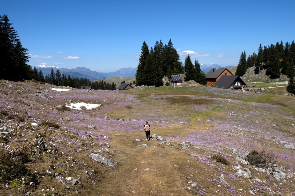
{"type": "MultiPolygon", "coordinates": [[[[226,66],[221,67],[220,65],[214,64],[214,63],[208,63],[208,64],[200,64],[200,68],[204,72],[208,72],[212,68],[229,68],[233,66],[226,66]]],[[[51,72],[51,69],[53,69],[54,73],[56,73],[56,70],[59,70],[61,74],[64,74],[66,77],[70,75],[73,77],[79,77],[79,78],[87,78],[89,80],[102,80],[103,78],[109,78],[109,77],[135,77],[137,68],[128,67],[128,68],[121,68],[120,70],[117,70],[115,72],[96,72],[92,71],[89,68],[86,67],[77,67],[77,68],[59,68],[55,66],[45,66],[45,65],[38,65],[37,70],[38,72],[41,70],[43,72],[43,75],[49,75],[51,72]]]]}

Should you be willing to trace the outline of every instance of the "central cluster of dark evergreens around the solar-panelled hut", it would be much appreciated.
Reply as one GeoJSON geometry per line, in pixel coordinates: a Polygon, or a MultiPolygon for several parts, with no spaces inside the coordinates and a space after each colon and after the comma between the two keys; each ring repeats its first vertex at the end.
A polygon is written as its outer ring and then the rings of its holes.
{"type": "MultiPolygon", "coordinates": [[[[189,55],[187,59],[190,60],[189,55]]],[[[187,61],[189,61],[187,60],[187,61]]],[[[188,62],[187,62],[188,63],[188,62]]],[[[198,67],[199,62],[195,62],[198,67]]],[[[156,41],[154,47],[149,49],[147,43],[144,41],[141,47],[141,54],[139,64],[136,71],[136,86],[139,85],[155,85],[163,86],[163,77],[176,74],[190,75],[185,80],[199,80],[199,76],[203,76],[199,68],[191,68],[190,65],[180,61],[177,50],[173,47],[171,39],[167,44],[163,45],[162,40],[156,41]],[[197,71],[196,71],[197,70],[197,71]],[[198,74],[196,73],[198,72],[198,74]],[[194,77],[191,77],[193,75],[194,77]]],[[[203,79],[202,79],[203,80],[203,79]]]]}

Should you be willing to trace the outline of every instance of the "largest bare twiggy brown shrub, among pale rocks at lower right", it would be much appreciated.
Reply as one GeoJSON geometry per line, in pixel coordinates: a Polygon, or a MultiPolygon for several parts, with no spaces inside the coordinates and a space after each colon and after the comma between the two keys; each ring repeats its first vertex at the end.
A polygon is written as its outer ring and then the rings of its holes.
{"type": "Polygon", "coordinates": [[[258,152],[257,150],[252,150],[245,160],[249,161],[251,165],[265,168],[269,165],[274,165],[277,162],[277,156],[271,151],[262,150],[258,152]]]}

